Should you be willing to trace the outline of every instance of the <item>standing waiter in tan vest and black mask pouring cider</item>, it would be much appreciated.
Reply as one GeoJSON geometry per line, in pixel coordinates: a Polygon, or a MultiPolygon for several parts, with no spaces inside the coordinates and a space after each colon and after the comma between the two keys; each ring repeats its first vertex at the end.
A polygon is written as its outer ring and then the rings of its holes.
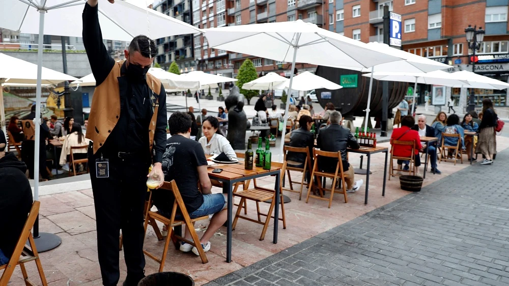
{"type": "Polygon", "coordinates": [[[117,285],[122,229],[127,265],[123,285],[134,286],[145,276],[143,209],[150,164],[154,164],[151,176],[164,177],[166,94],[161,82],[147,73],[156,55],[154,41],[148,37],[132,40],[124,51],[125,61],[110,57],[103,44],[97,2],[88,0],[82,17],[83,44],[96,80],[87,138],[93,141],[89,168],[99,265],[103,285],[117,285]]]}

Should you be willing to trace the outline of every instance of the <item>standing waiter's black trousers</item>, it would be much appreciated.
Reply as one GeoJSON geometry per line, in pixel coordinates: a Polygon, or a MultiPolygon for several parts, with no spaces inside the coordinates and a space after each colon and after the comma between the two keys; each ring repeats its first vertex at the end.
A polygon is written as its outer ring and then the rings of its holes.
{"type": "Polygon", "coordinates": [[[119,234],[122,229],[124,258],[128,275],[143,274],[143,209],[147,194],[147,175],[150,158],[146,156],[121,160],[118,156],[103,154],[109,159],[109,177],[96,177],[96,159],[89,147],[90,178],[94,194],[97,223],[97,252],[102,283],[117,285],[119,271],[119,234]]]}

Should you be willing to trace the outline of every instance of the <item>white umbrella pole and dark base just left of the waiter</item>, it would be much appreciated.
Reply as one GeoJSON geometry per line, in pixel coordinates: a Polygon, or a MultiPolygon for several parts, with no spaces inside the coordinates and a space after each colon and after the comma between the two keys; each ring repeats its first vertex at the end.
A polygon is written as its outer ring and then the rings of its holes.
{"type": "MultiPolygon", "coordinates": [[[[37,49],[37,89],[35,106],[35,149],[34,149],[34,201],[39,200],[39,147],[41,146],[41,85],[42,85],[42,50],[44,38],[44,14],[39,10],[39,45],[37,49]]],[[[56,160],[56,158],[55,158],[56,160]]],[[[46,162],[44,162],[46,163],[46,162]]],[[[45,171],[45,170],[43,170],[45,171]]],[[[34,240],[39,252],[51,250],[62,243],[62,239],[51,233],[39,233],[39,216],[34,224],[34,240]]]]}

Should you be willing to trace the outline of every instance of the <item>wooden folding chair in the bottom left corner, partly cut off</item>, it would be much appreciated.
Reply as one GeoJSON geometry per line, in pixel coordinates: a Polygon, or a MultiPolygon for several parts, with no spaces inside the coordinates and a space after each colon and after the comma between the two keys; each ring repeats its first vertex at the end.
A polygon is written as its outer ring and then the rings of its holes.
{"type": "Polygon", "coordinates": [[[48,285],[48,283],[46,282],[46,276],[44,275],[44,271],[42,270],[42,264],[39,258],[39,253],[37,253],[34,238],[32,237],[32,228],[34,227],[35,220],[37,219],[37,215],[39,214],[40,205],[41,202],[39,201],[35,201],[34,204],[32,205],[30,213],[26,219],[25,226],[21,231],[21,235],[19,236],[18,242],[16,243],[16,247],[14,248],[14,252],[12,253],[11,258],[9,259],[9,262],[6,265],[0,266],[0,270],[5,269],[4,273],[2,273],[2,277],[0,278],[1,286],[6,286],[9,283],[9,280],[11,279],[12,273],[14,272],[14,268],[16,267],[16,265],[19,265],[19,268],[21,268],[21,273],[27,286],[37,285],[29,280],[29,277],[26,273],[25,263],[30,261],[35,261],[37,271],[39,272],[39,277],[41,278],[42,285],[43,286],[48,285]],[[27,240],[30,244],[31,249],[29,249],[25,245],[27,240]]]}

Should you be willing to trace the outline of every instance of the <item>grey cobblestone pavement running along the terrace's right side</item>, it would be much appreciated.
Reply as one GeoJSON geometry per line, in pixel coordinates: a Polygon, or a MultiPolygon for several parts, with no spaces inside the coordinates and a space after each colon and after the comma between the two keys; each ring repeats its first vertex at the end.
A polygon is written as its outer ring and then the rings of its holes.
{"type": "Polygon", "coordinates": [[[206,285],[508,285],[508,163],[500,152],[206,285]]]}

